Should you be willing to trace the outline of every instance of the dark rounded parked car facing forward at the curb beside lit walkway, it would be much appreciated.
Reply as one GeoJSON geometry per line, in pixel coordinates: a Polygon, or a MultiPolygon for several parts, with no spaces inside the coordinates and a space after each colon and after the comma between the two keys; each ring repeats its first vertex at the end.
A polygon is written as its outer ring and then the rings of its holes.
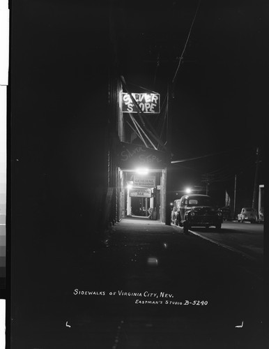
{"type": "Polygon", "coordinates": [[[215,208],[212,198],[208,195],[184,195],[174,201],[171,213],[171,220],[174,224],[183,227],[187,234],[192,227],[215,226],[216,230],[222,228],[222,211],[215,208]]]}

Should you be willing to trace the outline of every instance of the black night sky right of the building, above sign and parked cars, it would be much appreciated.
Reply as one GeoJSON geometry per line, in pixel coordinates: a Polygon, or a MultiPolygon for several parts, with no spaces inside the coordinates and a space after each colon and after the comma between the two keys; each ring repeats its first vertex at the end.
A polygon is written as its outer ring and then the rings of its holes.
{"type": "MultiPolygon", "coordinates": [[[[127,81],[166,94],[198,3],[149,1],[143,11],[129,3],[122,35],[127,81]]],[[[261,1],[201,1],[169,105],[171,151],[172,160],[215,156],[173,165],[173,190],[201,185],[202,175],[212,172],[211,188],[232,193],[238,174],[238,186],[251,200],[257,146],[263,184],[266,10],[261,1]]]]}

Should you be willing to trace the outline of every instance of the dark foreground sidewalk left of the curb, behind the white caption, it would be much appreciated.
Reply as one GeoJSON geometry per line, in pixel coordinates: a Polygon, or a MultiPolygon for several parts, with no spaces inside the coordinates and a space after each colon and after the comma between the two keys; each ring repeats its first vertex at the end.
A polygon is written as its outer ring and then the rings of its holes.
{"type": "Polygon", "coordinates": [[[13,348],[268,348],[263,280],[242,255],[148,218],[69,248],[24,294],[13,348]]]}

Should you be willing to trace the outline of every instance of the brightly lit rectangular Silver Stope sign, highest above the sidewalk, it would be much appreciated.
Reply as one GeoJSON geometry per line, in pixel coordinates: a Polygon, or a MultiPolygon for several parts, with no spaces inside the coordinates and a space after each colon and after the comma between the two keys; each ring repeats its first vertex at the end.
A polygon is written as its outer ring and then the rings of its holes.
{"type": "MultiPolygon", "coordinates": [[[[146,114],[160,113],[160,94],[132,94],[134,101],[137,101],[142,112],[146,114]]],[[[137,112],[130,94],[121,94],[122,112],[137,112]]]]}

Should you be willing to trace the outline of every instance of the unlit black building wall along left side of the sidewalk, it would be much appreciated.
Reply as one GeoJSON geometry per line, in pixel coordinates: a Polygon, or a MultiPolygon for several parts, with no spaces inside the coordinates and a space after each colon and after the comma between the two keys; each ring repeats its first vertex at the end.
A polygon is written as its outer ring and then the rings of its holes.
{"type": "Polygon", "coordinates": [[[55,293],[71,284],[63,273],[103,234],[107,17],[98,4],[73,5],[12,4],[8,228],[14,323],[31,318],[50,288],[55,293]]]}

